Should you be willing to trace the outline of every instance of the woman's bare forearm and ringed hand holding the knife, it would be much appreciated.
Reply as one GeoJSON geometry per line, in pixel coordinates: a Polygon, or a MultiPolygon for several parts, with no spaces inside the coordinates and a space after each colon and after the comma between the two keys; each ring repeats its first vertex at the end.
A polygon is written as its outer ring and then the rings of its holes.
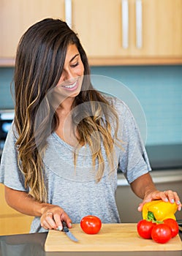
{"type": "Polygon", "coordinates": [[[62,221],[72,227],[71,219],[65,211],[59,206],[53,206],[49,203],[39,203],[34,197],[26,192],[10,189],[5,186],[5,199],[7,204],[20,211],[22,214],[40,217],[41,226],[45,229],[62,229],[62,221]]]}

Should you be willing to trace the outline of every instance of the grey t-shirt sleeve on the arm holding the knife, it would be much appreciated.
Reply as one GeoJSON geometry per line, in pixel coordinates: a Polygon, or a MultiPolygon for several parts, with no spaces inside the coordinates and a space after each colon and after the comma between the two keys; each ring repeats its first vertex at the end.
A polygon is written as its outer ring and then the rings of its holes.
{"type": "Polygon", "coordinates": [[[24,176],[18,167],[18,151],[15,146],[14,124],[10,127],[0,165],[0,183],[15,190],[26,191],[24,186],[24,176]]]}

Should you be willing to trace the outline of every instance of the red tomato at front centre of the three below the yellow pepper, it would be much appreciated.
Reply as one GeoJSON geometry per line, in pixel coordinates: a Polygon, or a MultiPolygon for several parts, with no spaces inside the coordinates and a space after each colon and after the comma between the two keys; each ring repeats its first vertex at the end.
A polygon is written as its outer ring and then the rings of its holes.
{"type": "Polygon", "coordinates": [[[151,232],[151,237],[153,241],[156,241],[159,244],[165,244],[172,237],[171,233],[172,232],[170,230],[170,227],[162,223],[162,224],[157,224],[155,227],[153,227],[153,230],[151,232]]]}

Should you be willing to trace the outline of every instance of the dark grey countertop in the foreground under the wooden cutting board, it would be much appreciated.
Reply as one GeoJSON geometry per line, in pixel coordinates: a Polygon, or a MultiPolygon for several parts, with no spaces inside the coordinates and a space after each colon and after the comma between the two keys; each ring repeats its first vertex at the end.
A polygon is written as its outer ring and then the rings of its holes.
{"type": "MultiPolygon", "coordinates": [[[[180,233],[182,239],[182,233],[180,233]]],[[[47,233],[0,236],[0,256],[153,256],[153,252],[45,252],[47,233]]],[[[158,256],[182,256],[182,251],[155,252],[158,256]]]]}

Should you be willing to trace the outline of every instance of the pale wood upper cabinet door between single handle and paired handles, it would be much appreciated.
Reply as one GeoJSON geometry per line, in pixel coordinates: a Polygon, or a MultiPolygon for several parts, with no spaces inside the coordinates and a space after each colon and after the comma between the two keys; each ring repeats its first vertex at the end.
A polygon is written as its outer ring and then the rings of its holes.
{"type": "Polygon", "coordinates": [[[72,0],[72,29],[88,56],[117,56],[121,47],[121,0],[72,0]]]}

